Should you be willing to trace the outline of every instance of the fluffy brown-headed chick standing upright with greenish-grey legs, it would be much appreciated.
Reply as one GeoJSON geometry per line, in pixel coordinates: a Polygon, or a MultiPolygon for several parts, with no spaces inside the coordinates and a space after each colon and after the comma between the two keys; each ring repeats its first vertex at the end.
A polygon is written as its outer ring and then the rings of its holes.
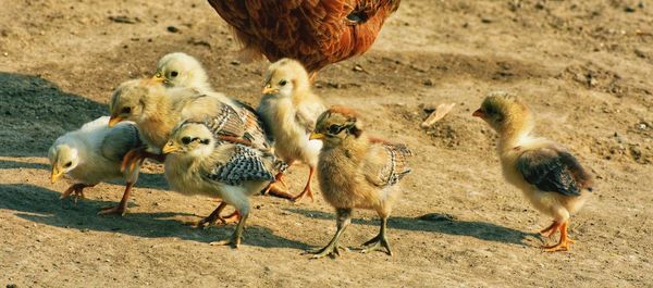
{"type": "Polygon", "coordinates": [[[340,238],[352,222],[353,210],[368,209],[381,217],[381,229],[364,243],[362,252],[385,249],[392,255],[387,217],[401,196],[399,181],[411,172],[408,158],[412,152],[405,145],[368,137],[356,111],[344,107],[324,111],[310,138],[323,141],[318,178],[324,200],[335,208],[337,230],[329,245],[309,252],[313,258],[340,255],[340,238]]]}

